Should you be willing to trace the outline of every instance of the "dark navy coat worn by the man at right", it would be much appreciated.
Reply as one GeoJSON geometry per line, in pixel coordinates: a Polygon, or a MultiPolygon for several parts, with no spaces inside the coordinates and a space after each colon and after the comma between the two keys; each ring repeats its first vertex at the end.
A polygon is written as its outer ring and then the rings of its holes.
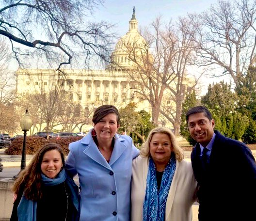
{"type": "Polygon", "coordinates": [[[242,142],[215,130],[208,170],[201,167],[200,145],[191,160],[199,184],[199,221],[256,221],[256,162],[242,142]]]}

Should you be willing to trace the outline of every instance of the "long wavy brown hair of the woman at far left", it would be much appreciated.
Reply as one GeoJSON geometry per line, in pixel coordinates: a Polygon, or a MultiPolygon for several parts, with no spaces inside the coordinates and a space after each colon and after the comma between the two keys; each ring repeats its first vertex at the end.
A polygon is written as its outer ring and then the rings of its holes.
{"type": "Polygon", "coordinates": [[[41,199],[41,164],[46,152],[57,150],[61,154],[62,163],[64,166],[64,152],[57,143],[47,143],[42,146],[32,158],[30,164],[22,171],[16,179],[12,190],[18,194],[24,189],[24,195],[27,199],[37,201],[41,199]]]}

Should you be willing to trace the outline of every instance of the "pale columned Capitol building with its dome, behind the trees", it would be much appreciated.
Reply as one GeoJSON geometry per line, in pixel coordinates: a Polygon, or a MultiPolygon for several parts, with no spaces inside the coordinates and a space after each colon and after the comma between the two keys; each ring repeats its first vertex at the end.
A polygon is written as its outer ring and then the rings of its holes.
{"type": "Polygon", "coordinates": [[[134,82],[128,78],[128,72],[134,69],[134,64],[128,59],[125,47],[138,44],[145,45],[144,38],[137,31],[138,21],[133,9],[129,21],[128,32],[119,39],[111,55],[112,63],[105,70],[65,69],[64,78],[60,79],[54,69],[21,69],[16,71],[16,92],[20,96],[39,93],[42,88],[49,90],[62,81],[63,88],[74,102],[80,103],[84,116],[90,107],[103,104],[115,105],[118,109],[135,102],[137,110],[152,113],[150,104],[133,93],[134,82]]]}

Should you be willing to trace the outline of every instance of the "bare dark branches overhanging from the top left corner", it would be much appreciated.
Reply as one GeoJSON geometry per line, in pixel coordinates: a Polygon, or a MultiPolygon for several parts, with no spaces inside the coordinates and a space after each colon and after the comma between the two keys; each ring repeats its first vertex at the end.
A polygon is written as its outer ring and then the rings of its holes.
{"type": "Polygon", "coordinates": [[[0,0],[0,35],[10,40],[20,67],[35,56],[47,59],[57,70],[73,60],[73,64],[83,60],[84,65],[89,65],[94,56],[107,61],[112,26],[88,20],[93,9],[102,3],[103,0],[0,0]]]}

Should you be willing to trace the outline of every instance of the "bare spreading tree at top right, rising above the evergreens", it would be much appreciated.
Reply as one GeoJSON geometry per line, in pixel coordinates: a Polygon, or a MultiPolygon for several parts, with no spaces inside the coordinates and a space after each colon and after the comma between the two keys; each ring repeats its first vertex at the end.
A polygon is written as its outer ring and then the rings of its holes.
{"type": "Polygon", "coordinates": [[[202,14],[189,15],[198,66],[221,67],[238,86],[241,74],[256,63],[256,1],[219,0],[202,14]]]}

